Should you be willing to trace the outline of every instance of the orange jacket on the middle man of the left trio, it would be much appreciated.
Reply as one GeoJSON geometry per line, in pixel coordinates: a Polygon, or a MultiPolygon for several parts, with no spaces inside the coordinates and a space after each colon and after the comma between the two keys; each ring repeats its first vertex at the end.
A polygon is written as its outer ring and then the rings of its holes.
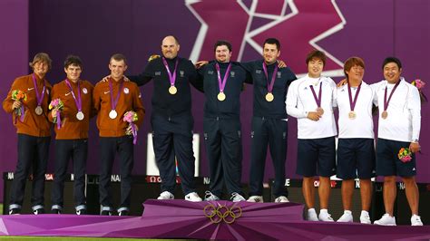
{"type": "MultiPolygon", "coordinates": [[[[54,124],[56,133],[56,140],[74,140],[74,139],[87,139],[88,130],[90,129],[90,119],[96,114],[93,109],[93,89],[94,86],[91,82],[79,81],[81,88],[81,102],[83,111],[83,120],[76,118],[78,108],[73,99],[72,92],[67,86],[65,80],[54,84],[53,92],[51,94],[52,100],[60,99],[64,103],[63,111],[61,111],[61,128],[57,129],[54,124]]],[[[78,99],[78,83],[69,81],[73,88],[74,96],[78,99]]],[[[48,118],[53,121],[54,118],[49,112],[48,118]]],[[[54,122],[54,121],[53,121],[54,122]]]]}

